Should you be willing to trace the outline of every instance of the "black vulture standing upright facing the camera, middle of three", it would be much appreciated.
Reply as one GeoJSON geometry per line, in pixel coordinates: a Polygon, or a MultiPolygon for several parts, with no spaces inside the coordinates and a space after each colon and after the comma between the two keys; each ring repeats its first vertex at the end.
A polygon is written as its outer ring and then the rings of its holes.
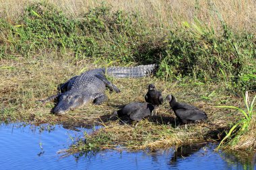
{"type": "Polygon", "coordinates": [[[160,105],[164,101],[162,93],[156,90],[155,85],[148,85],[148,93],[145,95],[145,100],[152,105],[160,105]]]}

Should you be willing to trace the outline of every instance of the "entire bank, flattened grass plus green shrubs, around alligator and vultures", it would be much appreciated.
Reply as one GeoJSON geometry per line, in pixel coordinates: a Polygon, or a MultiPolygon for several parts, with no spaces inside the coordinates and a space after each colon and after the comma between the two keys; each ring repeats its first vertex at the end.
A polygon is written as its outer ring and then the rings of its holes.
{"type": "Polygon", "coordinates": [[[203,4],[197,5],[200,7],[194,9],[198,13],[191,18],[179,17],[183,18],[179,24],[171,26],[150,24],[144,19],[144,11],[120,11],[108,5],[96,5],[72,15],[67,15],[61,5],[45,2],[22,7],[17,10],[22,13],[18,18],[6,9],[1,11],[1,120],[104,126],[86,134],[88,142],[81,140],[71,151],[99,146],[158,148],[222,139],[223,130],[229,130],[243,114],[214,106],[240,107],[245,91],[255,94],[255,32],[250,24],[237,27],[240,32],[233,29],[223,11],[212,10],[218,24],[206,24],[200,17],[203,4]],[[54,103],[37,102],[57,93],[59,83],[88,69],[150,63],[159,65],[155,77],[111,79],[122,93],[107,93],[109,99],[103,105],[91,104],[66,116],[55,116],[50,114],[54,103]],[[167,103],[157,116],[143,120],[136,128],[121,120],[109,120],[120,105],[143,101],[149,83],[161,89],[164,96],[172,93],[179,101],[205,110],[209,120],[188,129],[176,128],[167,103]]]}

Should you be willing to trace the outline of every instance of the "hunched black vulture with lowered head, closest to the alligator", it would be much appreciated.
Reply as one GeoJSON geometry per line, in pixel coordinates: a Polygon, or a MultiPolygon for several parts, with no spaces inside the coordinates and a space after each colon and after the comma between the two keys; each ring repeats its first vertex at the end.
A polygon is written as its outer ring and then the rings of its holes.
{"type": "Polygon", "coordinates": [[[112,116],[128,116],[133,121],[140,121],[150,116],[153,110],[154,105],[150,103],[133,102],[125,105],[121,110],[113,112],[112,116]]]}

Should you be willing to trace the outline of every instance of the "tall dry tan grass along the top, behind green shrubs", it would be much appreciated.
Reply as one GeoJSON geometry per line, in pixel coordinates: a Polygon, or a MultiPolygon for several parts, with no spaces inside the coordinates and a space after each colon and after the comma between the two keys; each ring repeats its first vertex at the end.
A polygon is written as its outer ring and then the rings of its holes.
{"type": "MultiPolygon", "coordinates": [[[[38,0],[0,0],[0,17],[10,20],[18,19],[24,7],[38,0]]],[[[48,0],[58,5],[67,15],[77,17],[88,11],[88,7],[97,7],[102,2],[113,6],[113,10],[139,11],[148,24],[158,28],[168,26],[181,26],[181,22],[193,22],[193,17],[198,17],[205,24],[213,26],[216,30],[222,28],[220,13],[230,28],[236,31],[247,30],[255,34],[256,26],[256,1],[255,0],[48,0]]]]}

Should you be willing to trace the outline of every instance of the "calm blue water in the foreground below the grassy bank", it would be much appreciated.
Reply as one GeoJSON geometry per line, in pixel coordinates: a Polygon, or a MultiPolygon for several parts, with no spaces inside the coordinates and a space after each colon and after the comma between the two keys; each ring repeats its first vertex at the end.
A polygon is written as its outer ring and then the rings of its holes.
{"type": "MultiPolygon", "coordinates": [[[[241,163],[237,155],[214,152],[214,144],[165,151],[102,151],[61,158],[57,151],[91,128],[0,125],[0,169],[256,169],[255,157],[241,163]],[[79,131],[80,130],[80,131],[79,131]]],[[[99,127],[96,127],[99,128],[99,127]]]]}

